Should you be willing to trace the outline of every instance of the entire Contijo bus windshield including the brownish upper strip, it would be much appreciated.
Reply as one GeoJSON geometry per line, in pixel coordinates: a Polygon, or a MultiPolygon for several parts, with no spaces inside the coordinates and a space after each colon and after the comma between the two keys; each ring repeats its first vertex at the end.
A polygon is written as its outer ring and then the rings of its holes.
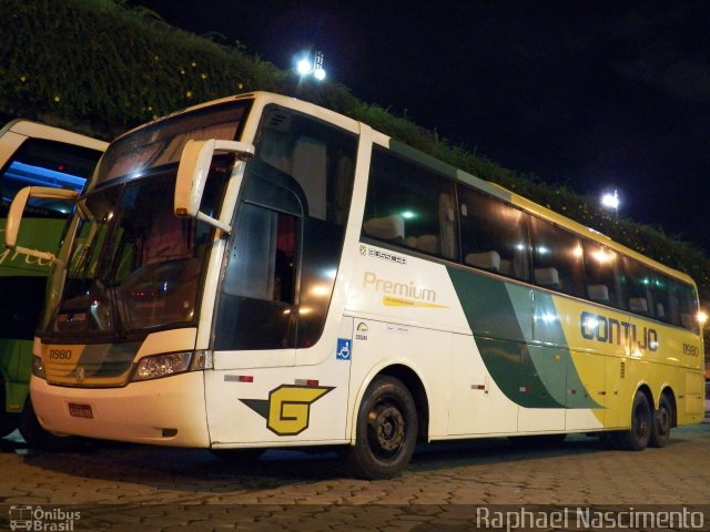
{"type": "MultiPolygon", "coordinates": [[[[213,228],[174,215],[178,163],[189,139],[234,140],[247,104],[170,117],[109,147],[77,204],[67,282],[47,323],[50,336],[105,339],[195,323],[213,228]]],[[[215,215],[233,165],[233,155],[213,158],[204,213],[215,215]]]]}

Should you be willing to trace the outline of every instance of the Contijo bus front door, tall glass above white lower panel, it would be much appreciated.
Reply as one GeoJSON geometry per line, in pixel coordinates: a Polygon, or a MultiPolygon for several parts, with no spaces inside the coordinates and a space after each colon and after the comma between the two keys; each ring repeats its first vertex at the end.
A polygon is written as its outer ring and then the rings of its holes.
{"type": "Polygon", "coordinates": [[[255,175],[245,180],[213,318],[214,370],[205,372],[213,443],[293,436],[272,407],[293,392],[301,208],[287,188],[255,175]]]}

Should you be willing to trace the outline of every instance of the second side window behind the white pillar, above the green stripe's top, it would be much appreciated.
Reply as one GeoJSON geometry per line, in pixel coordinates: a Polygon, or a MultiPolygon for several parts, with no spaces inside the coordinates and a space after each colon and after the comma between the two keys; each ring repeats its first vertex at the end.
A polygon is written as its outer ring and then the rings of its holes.
{"type": "Polygon", "coordinates": [[[458,187],[462,256],[475,268],[528,280],[528,215],[465,186],[458,187]]]}

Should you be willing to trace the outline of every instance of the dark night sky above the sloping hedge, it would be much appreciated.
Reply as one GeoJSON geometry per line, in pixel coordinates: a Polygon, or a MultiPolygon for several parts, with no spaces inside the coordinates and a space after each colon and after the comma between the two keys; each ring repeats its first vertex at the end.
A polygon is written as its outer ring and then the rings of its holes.
{"type": "Polygon", "coordinates": [[[136,0],[710,252],[710,2],[136,0]]]}

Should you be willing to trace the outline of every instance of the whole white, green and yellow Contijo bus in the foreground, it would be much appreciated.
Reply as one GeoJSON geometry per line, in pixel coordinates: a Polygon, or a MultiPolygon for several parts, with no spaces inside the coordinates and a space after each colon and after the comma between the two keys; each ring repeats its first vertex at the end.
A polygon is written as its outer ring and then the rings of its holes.
{"type": "Polygon", "coordinates": [[[417,442],[640,450],[703,417],[690,277],[291,98],[115,140],[52,260],[31,381],[51,431],[339,446],[376,479],[417,442]]]}

